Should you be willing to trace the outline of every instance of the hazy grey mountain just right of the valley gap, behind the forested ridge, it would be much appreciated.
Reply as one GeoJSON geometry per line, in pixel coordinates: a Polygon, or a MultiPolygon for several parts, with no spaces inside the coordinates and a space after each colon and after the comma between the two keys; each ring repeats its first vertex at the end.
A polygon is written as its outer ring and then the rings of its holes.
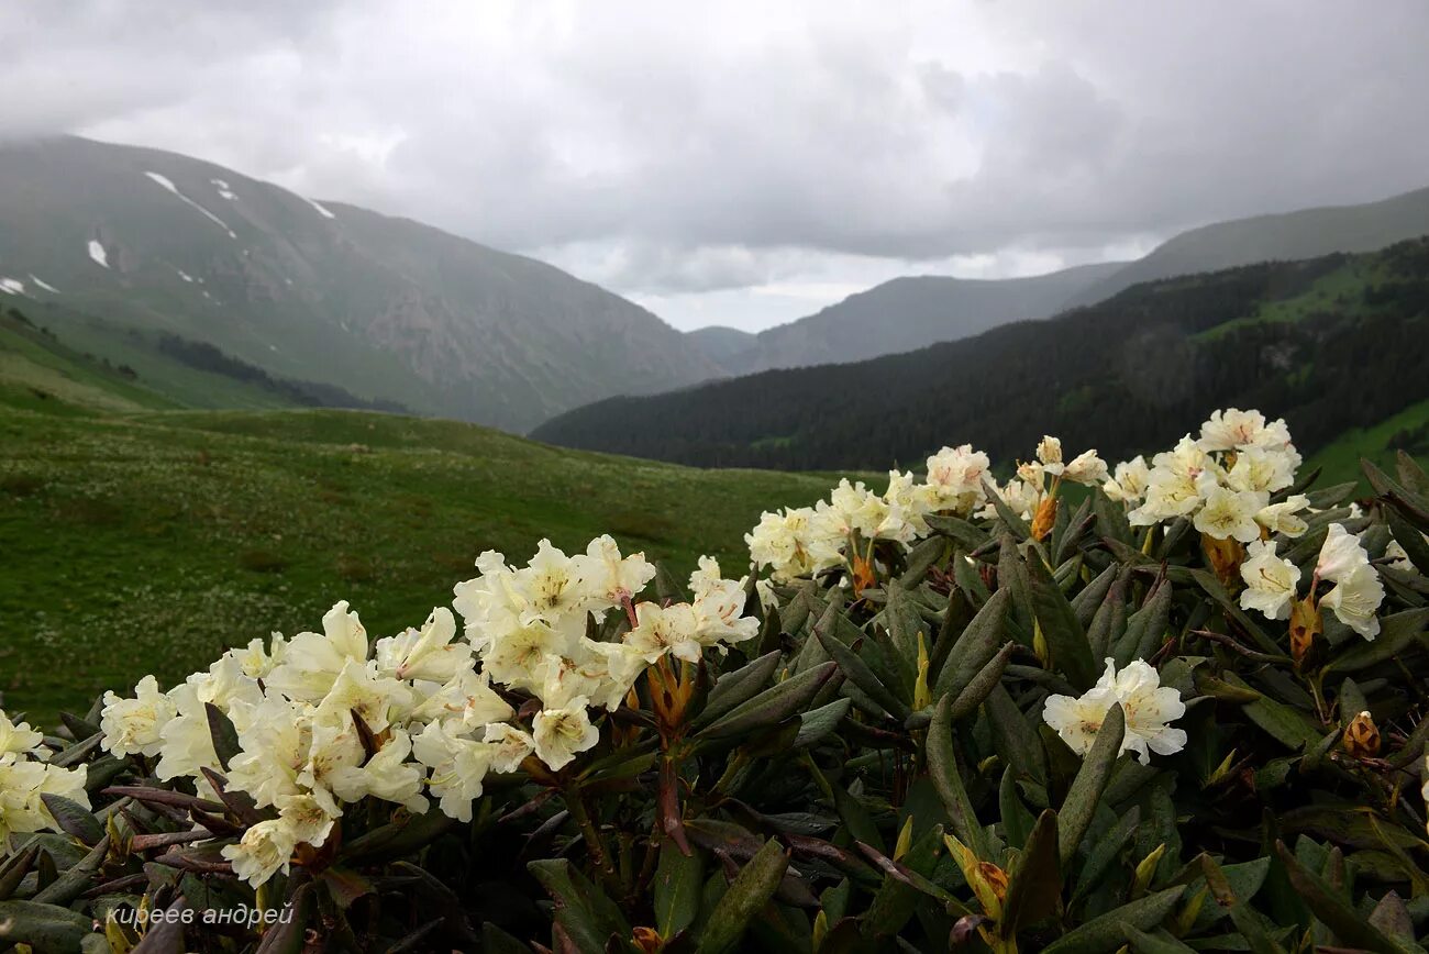
{"type": "Polygon", "coordinates": [[[789,324],[760,331],[722,360],[732,374],[859,361],[952,341],[1022,318],[1042,318],[1123,263],[1033,278],[893,278],[789,324]]]}

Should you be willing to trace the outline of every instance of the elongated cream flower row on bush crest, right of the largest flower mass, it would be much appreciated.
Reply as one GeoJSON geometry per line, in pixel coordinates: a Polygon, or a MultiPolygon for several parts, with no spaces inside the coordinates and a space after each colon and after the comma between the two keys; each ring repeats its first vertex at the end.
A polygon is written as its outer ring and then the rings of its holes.
{"type": "Polygon", "coordinates": [[[987,454],[969,444],[945,447],[927,458],[926,478],[889,471],[889,487],[876,494],[862,481],[840,480],[813,507],[765,513],[745,534],[756,567],[769,567],[775,583],[812,576],[857,556],[859,543],[879,540],[910,547],[929,534],[935,513],[969,516],[986,500],[987,454]]]}

